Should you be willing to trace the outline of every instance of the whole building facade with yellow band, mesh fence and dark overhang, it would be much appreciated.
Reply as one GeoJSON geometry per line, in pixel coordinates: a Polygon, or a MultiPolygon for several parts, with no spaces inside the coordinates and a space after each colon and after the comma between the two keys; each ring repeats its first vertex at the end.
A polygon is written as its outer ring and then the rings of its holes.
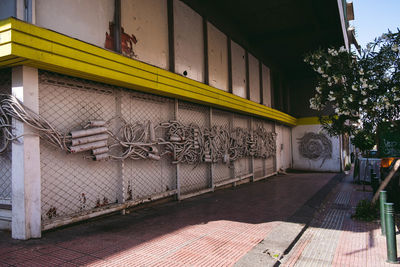
{"type": "Polygon", "coordinates": [[[287,168],[341,171],[348,138],[321,132],[302,57],[349,48],[348,6],[278,2],[2,1],[0,99],[31,120],[4,113],[20,137],[0,154],[0,226],[37,238],[287,168]]]}

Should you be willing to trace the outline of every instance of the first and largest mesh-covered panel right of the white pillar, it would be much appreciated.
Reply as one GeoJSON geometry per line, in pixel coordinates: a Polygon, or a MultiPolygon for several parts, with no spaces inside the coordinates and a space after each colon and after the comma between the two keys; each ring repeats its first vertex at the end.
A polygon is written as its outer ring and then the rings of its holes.
{"type": "MultiPolygon", "coordinates": [[[[49,72],[40,72],[39,78],[39,112],[61,132],[116,116],[116,90],[110,86],[49,72]]],[[[67,155],[43,141],[40,158],[44,224],[121,200],[118,162],[67,155]]]]}

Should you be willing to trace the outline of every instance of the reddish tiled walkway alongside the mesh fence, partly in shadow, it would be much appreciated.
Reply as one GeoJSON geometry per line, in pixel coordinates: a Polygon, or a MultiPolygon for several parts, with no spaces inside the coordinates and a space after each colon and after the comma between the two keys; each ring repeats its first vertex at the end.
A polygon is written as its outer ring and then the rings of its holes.
{"type": "Polygon", "coordinates": [[[0,266],[232,266],[266,236],[285,241],[283,223],[301,230],[313,213],[305,204],[321,201],[320,189],[334,176],[276,176],[58,229],[40,240],[16,241],[0,232],[0,266]]]}

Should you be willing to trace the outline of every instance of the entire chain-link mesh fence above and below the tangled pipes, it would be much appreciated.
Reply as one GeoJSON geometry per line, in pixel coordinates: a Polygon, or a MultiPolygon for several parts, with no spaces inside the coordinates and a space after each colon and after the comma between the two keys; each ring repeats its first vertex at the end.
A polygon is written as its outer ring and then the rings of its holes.
{"type": "MultiPolygon", "coordinates": [[[[274,131],[273,123],[261,119],[251,123],[249,116],[46,71],[39,72],[39,112],[64,133],[81,129],[90,120],[107,121],[107,128],[117,135],[122,125],[150,121],[156,126],[171,120],[196,124],[201,129],[217,126],[227,131],[237,127],[250,130],[260,125],[274,131]]],[[[157,128],[156,138],[165,133],[165,128],[157,128]]],[[[113,143],[112,138],[109,143],[113,143]]],[[[44,141],[40,143],[40,157],[43,225],[176,190],[189,195],[232,178],[250,176],[253,168],[255,177],[275,171],[273,158],[179,164],[179,168],[167,156],[160,160],[93,161],[88,154],[68,154],[44,141]]],[[[5,184],[3,177],[0,186],[5,184]]],[[[6,187],[11,192],[11,179],[8,181],[6,187]]],[[[0,193],[3,191],[7,190],[0,193]]]]}

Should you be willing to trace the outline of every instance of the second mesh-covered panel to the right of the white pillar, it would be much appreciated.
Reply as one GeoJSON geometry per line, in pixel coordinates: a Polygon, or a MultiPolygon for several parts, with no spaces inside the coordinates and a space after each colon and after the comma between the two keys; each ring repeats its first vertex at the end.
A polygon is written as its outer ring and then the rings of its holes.
{"type": "MultiPolygon", "coordinates": [[[[132,91],[121,92],[121,115],[127,123],[151,121],[153,125],[174,119],[174,100],[132,91]]],[[[159,129],[156,137],[163,137],[159,129]]],[[[176,189],[176,168],[172,159],[125,160],[123,162],[125,200],[139,200],[176,189]]]]}

